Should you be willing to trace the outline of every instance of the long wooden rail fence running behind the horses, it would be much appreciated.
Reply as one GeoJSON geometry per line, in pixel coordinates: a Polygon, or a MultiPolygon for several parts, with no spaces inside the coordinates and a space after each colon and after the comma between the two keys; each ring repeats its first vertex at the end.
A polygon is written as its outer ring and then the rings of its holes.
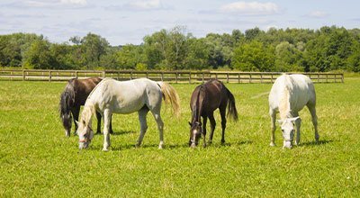
{"type": "MultiPolygon", "coordinates": [[[[170,83],[202,83],[219,79],[226,83],[274,83],[281,72],[225,72],[225,71],[133,71],[133,70],[37,70],[3,69],[0,80],[67,81],[71,78],[90,76],[112,77],[130,80],[147,77],[170,83]]],[[[291,73],[288,73],[291,74],[291,73]]],[[[302,73],[310,76],[314,83],[344,83],[342,73],[302,73]]]]}

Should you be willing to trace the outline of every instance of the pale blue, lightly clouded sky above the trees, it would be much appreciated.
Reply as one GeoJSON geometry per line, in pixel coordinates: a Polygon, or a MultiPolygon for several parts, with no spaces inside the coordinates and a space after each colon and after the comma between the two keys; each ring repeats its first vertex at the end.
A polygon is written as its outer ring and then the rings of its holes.
{"type": "Polygon", "coordinates": [[[0,34],[42,34],[51,42],[98,34],[112,46],[182,26],[197,38],[255,27],[360,28],[358,0],[0,0],[0,34]]]}

